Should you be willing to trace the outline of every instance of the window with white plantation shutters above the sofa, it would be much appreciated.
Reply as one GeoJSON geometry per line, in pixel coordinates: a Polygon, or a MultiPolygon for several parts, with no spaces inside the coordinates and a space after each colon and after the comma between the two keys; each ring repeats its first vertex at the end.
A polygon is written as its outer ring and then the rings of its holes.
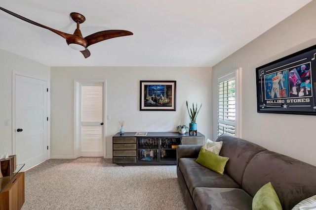
{"type": "Polygon", "coordinates": [[[238,110],[240,103],[240,84],[239,72],[241,68],[235,70],[224,77],[218,79],[218,115],[217,115],[217,135],[229,133],[237,137],[241,137],[241,129],[238,110]]]}

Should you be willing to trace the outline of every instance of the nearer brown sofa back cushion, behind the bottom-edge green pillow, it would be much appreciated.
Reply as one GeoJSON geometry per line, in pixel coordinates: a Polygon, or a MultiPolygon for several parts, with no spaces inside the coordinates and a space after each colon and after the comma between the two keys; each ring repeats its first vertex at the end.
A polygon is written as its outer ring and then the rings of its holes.
{"type": "Polygon", "coordinates": [[[267,182],[271,182],[284,210],[316,195],[316,167],[300,160],[262,151],[245,169],[242,188],[252,197],[267,182]]]}

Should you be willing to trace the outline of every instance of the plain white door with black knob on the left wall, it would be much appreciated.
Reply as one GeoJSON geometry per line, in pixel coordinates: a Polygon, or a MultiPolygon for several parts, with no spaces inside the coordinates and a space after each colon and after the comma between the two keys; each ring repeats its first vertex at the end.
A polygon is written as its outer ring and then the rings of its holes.
{"type": "Polygon", "coordinates": [[[47,81],[15,75],[14,144],[17,164],[47,159],[47,81]]]}

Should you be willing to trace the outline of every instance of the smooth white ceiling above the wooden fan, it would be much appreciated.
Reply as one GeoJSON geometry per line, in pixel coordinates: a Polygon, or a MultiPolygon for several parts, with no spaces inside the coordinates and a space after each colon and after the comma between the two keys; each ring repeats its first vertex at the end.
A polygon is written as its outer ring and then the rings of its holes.
{"type": "Polygon", "coordinates": [[[0,7],[83,37],[101,30],[131,36],[68,47],[61,36],[0,10],[0,49],[48,66],[213,66],[311,0],[1,0],[0,7]]]}

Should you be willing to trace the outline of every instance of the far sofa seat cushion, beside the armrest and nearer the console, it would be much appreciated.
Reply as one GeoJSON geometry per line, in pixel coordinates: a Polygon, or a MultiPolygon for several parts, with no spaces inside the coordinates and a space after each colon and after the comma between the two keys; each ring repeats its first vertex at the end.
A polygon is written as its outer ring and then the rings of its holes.
{"type": "Polygon", "coordinates": [[[224,175],[220,175],[201,166],[196,162],[196,158],[180,158],[179,167],[191,195],[196,187],[240,188],[240,186],[227,174],[224,173],[224,175]]]}

